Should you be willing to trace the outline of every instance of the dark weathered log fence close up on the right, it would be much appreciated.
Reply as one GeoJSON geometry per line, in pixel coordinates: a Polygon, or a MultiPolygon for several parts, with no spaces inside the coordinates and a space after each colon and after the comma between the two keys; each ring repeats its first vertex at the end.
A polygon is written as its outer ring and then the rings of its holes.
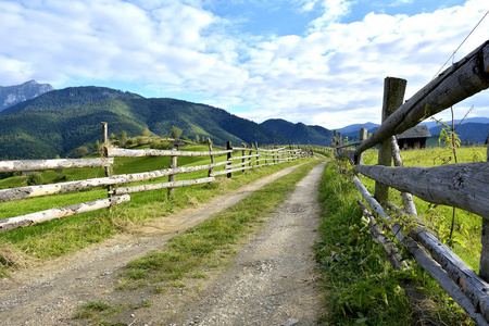
{"type": "MultiPolygon", "coordinates": [[[[342,145],[341,135],[335,133],[336,153],[354,162],[354,172],[376,181],[375,196],[372,196],[360,179],[354,177],[356,187],[377,216],[393,224],[392,230],[399,242],[406,247],[415,260],[478,325],[488,325],[489,163],[404,167],[400,161],[396,135],[487,89],[489,87],[489,41],[442,72],[406,102],[403,101],[405,85],[406,82],[403,79],[387,77],[380,127],[369,138],[366,137],[366,130],[361,130],[361,141],[349,145],[342,145]],[[363,152],[377,145],[379,145],[378,164],[363,165],[363,152]],[[346,150],[347,147],[352,146],[356,146],[354,151],[346,150]],[[391,167],[392,160],[396,165],[393,167],[391,167]],[[403,209],[388,202],[389,187],[401,191],[403,209]],[[412,195],[430,203],[460,208],[482,217],[479,275],[421,225],[408,230],[409,234],[405,235],[402,227],[394,223],[396,218],[389,216],[383,208],[387,205],[399,211],[400,214],[410,214],[415,218],[417,214],[412,195]]],[[[375,231],[375,218],[365,210],[364,214],[371,221],[371,229],[375,231]]],[[[385,239],[379,240],[384,243],[389,258],[392,258],[392,243],[388,243],[385,239]]],[[[401,266],[394,263],[396,265],[398,268],[401,266]]]]}

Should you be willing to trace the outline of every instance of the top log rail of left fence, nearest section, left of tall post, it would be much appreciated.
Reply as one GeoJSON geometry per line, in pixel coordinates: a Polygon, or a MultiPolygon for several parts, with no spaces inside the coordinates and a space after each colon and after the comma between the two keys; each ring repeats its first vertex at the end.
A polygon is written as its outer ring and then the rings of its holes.
{"type": "Polygon", "coordinates": [[[45,171],[55,168],[99,167],[110,166],[112,164],[114,164],[114,159],[105,158],[0,161],[0,173],[45,171]]]}

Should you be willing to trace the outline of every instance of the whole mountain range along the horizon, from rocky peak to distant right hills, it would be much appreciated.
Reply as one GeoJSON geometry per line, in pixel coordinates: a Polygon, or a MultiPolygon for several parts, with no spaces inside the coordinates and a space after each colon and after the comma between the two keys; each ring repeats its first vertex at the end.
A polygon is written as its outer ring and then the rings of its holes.
{"type": "MultiPolygon", "coordinates": [[[[20,101],[8,101],[0,110],[0,160],[74,156],[77,148],[92,149],[96,141],[101,140],[102,122],[109,124],[109,134],[116,136],[126,131],[128,137],[137,137],[148,128],[153,135],[164,137],[176,126],[183,129],[183,136],[211,138],[221,146],[228,140],[238,146],[241,142],[329,146],[333,138],[333,131],[321,126],[280,118],[258,124],[206,104],[168,98],[147,99],[105,87],[53,90],[50,85],[30,80],[0,90],[3,96],[0,100],[15,97],[20,101]]],[[[466,120],[457,129],[461,139],[484,142],[487,122],[489,118],[466,120]]],[[[355,124],[338,131],[355,140],[362,127],[373,133],[378,124],[355,124]]],[[[437,135],[439,128],[432,126],[431,135],[437,135]]]]}

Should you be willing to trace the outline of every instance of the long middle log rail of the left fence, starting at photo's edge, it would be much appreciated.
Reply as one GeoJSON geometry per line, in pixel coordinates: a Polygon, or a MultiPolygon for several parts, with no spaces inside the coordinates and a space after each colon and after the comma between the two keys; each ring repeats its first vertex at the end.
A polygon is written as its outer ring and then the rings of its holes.
{"type": "Polygon", "coordinates": [[[171,174],[192,173],[202,170],[209,170],[217,166],[228,164],[228,161],[218,162],[214,164],[197,165],[197,166],[181,166],[177,168],[166,168],[159,171],[150,171],[135,174],[121,174],[104,178],[85,179],[78,181],[68,181],[61,184],[28,186],[12,189],[0,190],[0,202],[21,200],[34,197],[50,196],[55,193],[64,193],[71,191],[92,189],[97,187],[115,186],[138,181],[147,181],[159,177],[168,176],[171,174]]]}

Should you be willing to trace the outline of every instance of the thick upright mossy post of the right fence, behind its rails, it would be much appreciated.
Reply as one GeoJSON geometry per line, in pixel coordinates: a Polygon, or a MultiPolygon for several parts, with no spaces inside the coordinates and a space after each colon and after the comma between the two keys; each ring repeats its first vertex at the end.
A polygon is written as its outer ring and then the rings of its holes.
{"type": "MultiPolygon", "coordinates": [[[[402,105],[406,84],[408,82],[401,78],[387,77],[384,79],[383,123],[402,105]]],[[[390,138],[380,142],[378,150],[378,165],[392,166],[392,147],[390,138]]],[[[389,187],[376,181],[374,197],[380,204],[386,203],[389,199],[389,187]]]]}

